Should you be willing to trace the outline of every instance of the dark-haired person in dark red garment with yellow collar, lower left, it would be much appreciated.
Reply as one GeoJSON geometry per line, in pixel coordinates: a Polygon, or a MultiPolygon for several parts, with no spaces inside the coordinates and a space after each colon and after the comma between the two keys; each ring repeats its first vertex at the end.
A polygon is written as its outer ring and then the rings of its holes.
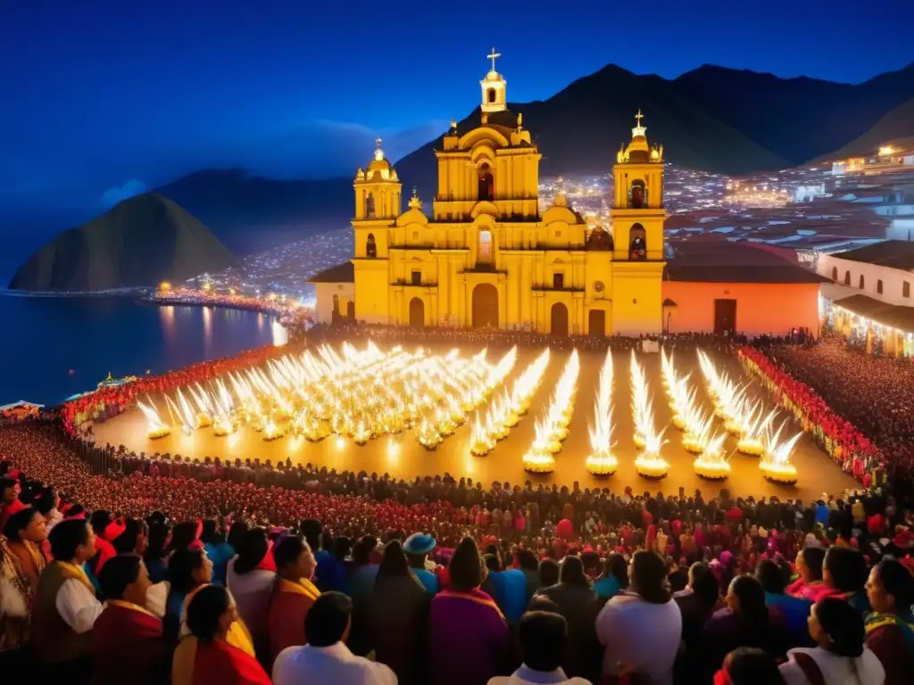
{"type": "Polygon", "coordinates": [[[119,554],[101,569],[106,602],[92,628],[93,683],[119,685],[167,680],[171,650],[162,621],[146,607],[149,574],[143,557],[119,554]]]}

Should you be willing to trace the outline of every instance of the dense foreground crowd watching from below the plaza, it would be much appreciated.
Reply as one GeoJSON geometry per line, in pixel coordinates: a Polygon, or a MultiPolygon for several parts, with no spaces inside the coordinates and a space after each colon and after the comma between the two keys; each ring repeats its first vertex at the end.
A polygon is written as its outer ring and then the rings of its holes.
{"type": "Polygon", "coordinates": [[[266,465],[132,458],[101,476],[38,423],[0,431],[0,459],[0,653],[48,678],[812,685],[914,672],[912,521],[890,496],[485,488],[312,467],[289,490],[266,465]]]}

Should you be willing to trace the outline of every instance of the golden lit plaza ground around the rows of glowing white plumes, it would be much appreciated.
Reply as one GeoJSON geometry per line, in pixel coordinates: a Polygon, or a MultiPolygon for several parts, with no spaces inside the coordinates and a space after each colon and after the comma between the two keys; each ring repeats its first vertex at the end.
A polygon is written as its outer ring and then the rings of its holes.
{"type": "MultiPolygon", "coordinates": [[[[466,348],[465,355],[478,351],[478,348],[466,348]]],[[[444,348],[435,352],[446,352],[444,348]]],[[[540,351],[521,350],[518,354],[517,364],[512,374],[507,379],[510,388],[517,375],[526,365],[533,361],[540,351]]],[[[490,363],[494,363],[504,351],[491,351],[488,355],[490,363]]],[[[559,374],[568,360],[569,352],[551,353],[550,362],[544,374],[543,382],[539,385],[534,395],[530,410],[523,416],[520,423],[511,431],[505,440],[498,443],[494,450],[483,458],[476,458],[470,454],[470,424],[469,421],[457,432],[447,438],[434,451],[427,451],[416,441],[411,431],[399,437],[378,437],[363,447],[357,446],[351,440],[330,436],[318,443],[310,443],[303,438],[291,436],[267,442],[262,439],[262,434],[254,432],[249,427],[240,427],[235,435],[217,437],[212,428],[195,431],[191,436],[186,436],[175,429],[172,435],[150,440],[146,437],[146,420],[139,409],[133,407],[121,416],[106,423],[95,426],[95,435],[98,444],[124,445],[127,448],[146,455],[158,453],[180,454],[185,458],[260,458],[263,462],[271,459],[272,463],[292,460],[293,464],[312,463],[317,466],[326,466],[337,470],[366,470],[368,473],[377,471],[378,474],[388,472],[391,476],[403,479],[413,479],[416,476],[441,475],[445,471],[453,477],[469,477],[479,480],[484,485],[490,485],[494,480],[508,481],[512,485],[523,484],[526,479],[537,483],[559,486],[568,485],[578,481],[581,488],[609,487],[613,491],[621,492],[626,486],[632,486],[635,492],[644,490],[663,490],[666,494],[674,494],[679,488],[685,488],[686,493],[701,489],[702,492],[716,494],[721,487],[727,487],[735,495],[749,496],[778,495],[783,498],[801,499],[810,501],[818,499],[823,493],[840,495],[845,489],[858,487],[856,480],[845,474],[809,437],[802,437],[793,455],[793,464],[796,466],[800,480],[793,486],[782,486],[771,483],[762,478],[759,469],[759,459],[734,453],[730,458],[732,474],[725,481],[725,485],[718,482],[700,479],[692,469],[694,456],[690,455],[681,446],[682,433],[670,423],[671,412],[667,398],[664,395],[660,377],[660,355],[640,354],[645,374],[654,397],[654,416],[658,427],[669,424],[665,437],[670,440],[664,445],[663,457],[670,464],[669,476],[663,480],[643,479],[635,473],[633,461],[638,456],[639,450],[632,442],[632,412],[631,388],[629,374],[628,353],[613,353],[615,367],[613,385],[613,423],[615,425],[614,439],[616,446],[614,454],[619,460],[619,469],[610,478],[597,478],[591,476],[585,467],[585,459],[590,453],[590,436],[588,425],[593,421],[593,404],[597,391],[600,375],[600,366],[603,364],[605,353],[584,352],[580,353],[580,374],[578,380],[577,400],[575,402],[574,417],[569,426],[569,437],[563,443],[562,450],[556,455],[556,469],[553,473],[537,476],[524,471],[521,461],[522,456],[530,447],[534,437],[534,423],[538,416],[546,410],[549,396],[552,395],[559,374]]],[[[732,357],[711,354],[711,358],[718,368],[726,369],[731,377],[747,380],[742,374],[739,364],[732,357]]],[[[691,373],[690,383],[700,383],[701,387],[697,397],[704,406],[710,408],[710,400],[704,385],[704,378],[697,364],[696,353],[682,352],[675,355],[675,367],[679,374],[691,373]]],[[[756,383],[750,385],[750,394],[758,394],[771,408],[771,398],[756,383]]],[[[161,397],[153,397],[157,406],[164,406],[161,397]]],[[[781,420],[788,415],[781,412],[775,425],[780,425],[781,420]]],[[[723,429],[719,419],[717,428],[723,429]]],[[[799,430],[798,426],[794,427],[799,430]]],[[[785,428],[785,432],[787,429],[785,428]]],[[[736,448],[736,439],[728,437],[728,450],[736,448]]]]}

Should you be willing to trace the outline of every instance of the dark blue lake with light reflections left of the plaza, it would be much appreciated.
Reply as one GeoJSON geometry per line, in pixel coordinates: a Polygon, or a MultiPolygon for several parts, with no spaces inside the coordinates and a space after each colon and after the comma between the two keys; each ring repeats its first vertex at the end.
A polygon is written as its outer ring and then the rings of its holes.
{"type": "Polygon", "coordinates": [[[0,405],[53,405],[114,377],[162,374],[287,340],[253,311],[160,307],[130,298],[0,295],[0,405]]]}

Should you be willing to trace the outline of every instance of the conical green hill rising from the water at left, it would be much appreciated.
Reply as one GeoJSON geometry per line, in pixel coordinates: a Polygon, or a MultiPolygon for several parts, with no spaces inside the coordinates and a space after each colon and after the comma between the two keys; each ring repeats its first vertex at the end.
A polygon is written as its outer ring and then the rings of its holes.
{"type": "Polygon", "coordinates": [[[16,269],[9,288],[154,286],[234,263],[231,252],[196,217],[162,195],[146,193],[59,234],[16,269]]]}

